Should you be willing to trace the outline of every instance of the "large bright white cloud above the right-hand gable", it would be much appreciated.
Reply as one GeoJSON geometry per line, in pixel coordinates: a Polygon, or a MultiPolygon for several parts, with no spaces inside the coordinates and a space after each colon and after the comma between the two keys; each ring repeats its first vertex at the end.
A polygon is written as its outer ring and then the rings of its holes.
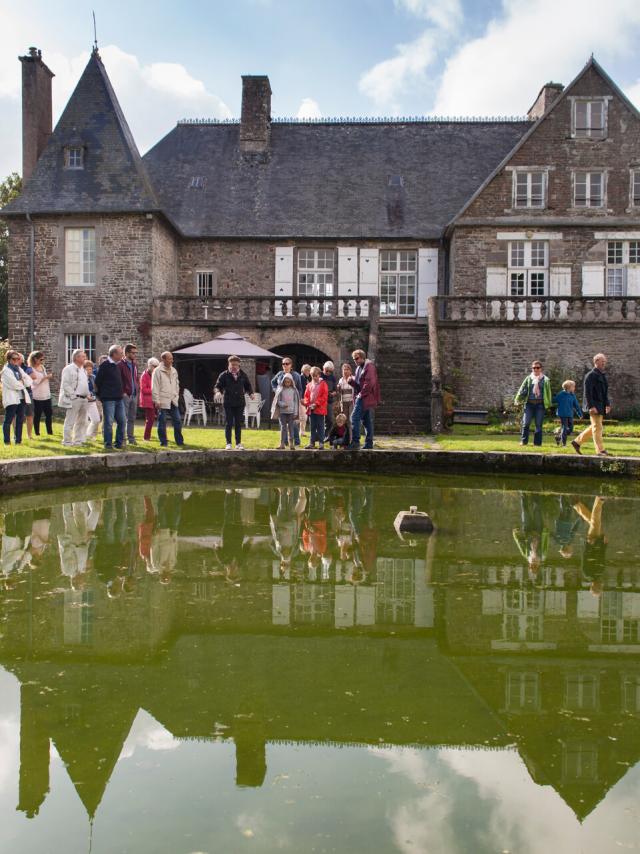
{"type": "Polygon", "coordinates": [[[631,57],[640,3],[610,0],[503,0],[484,35],[447,60],[435,115],[522,115],[547,80],[568,83],[593,51],[603,64],[631,57]]]}

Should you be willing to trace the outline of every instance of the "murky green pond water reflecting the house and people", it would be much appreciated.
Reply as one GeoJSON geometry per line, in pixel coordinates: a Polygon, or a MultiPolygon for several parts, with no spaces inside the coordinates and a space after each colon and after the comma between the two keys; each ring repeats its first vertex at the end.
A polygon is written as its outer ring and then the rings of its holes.
{"type": "Polygon", "coordinates": [[[0,851],[637,850],[633,487],[227,486],[0,504],[0,851]]]}

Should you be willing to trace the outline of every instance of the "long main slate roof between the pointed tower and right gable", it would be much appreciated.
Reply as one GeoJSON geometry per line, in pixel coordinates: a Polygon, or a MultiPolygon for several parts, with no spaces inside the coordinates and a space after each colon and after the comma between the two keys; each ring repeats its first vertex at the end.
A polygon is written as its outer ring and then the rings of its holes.
{"type": "Polygon", "coordinates": [[[260,162],[242,157],[239,125],[179,124],[143,159],[185,236],[438,238],[530,127],[274,123],[260,162]],[[203,188],[190,186],[194,177],[203,188]]]}

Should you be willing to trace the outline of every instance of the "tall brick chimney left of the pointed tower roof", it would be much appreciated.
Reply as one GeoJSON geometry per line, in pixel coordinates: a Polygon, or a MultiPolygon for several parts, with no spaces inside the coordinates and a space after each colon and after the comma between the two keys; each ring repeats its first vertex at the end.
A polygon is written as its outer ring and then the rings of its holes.
{"type": "Polygon", "coordinates": [[[54,74],[35,47],[18,59],[22,63],[22,180],[27,181],[51,136],[54,74]]]}

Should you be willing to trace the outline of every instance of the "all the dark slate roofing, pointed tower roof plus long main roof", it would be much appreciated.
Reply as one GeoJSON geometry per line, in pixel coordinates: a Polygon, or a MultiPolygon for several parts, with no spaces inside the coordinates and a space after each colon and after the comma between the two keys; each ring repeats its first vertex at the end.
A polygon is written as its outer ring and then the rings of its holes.
{"type": "Polygon", "coordinates": [[[239,124],[179,123],[141,158],[94,52],[3,214],[162,211],[186,237],[439,238],[530,127],[274,122],[268,153],[243,156],[239,124]],[[84,169],[64,168],[66,145],[85,146],[84,169]]]}

